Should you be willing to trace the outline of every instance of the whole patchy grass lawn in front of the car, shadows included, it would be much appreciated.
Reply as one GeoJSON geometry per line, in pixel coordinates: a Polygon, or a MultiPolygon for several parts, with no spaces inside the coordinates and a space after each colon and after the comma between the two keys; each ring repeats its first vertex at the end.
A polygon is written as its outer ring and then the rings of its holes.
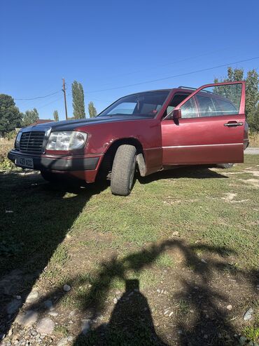
{"type": "Polygon", "coordinates": [[[13,322],[10,297],[34,289],[40,298],[22,310],[44,315],[52,300],[52,345],[66,335],[73,345],[238,345],[239,333],[258,341],[258,192],[257,155],[227,170],[139,178],[129,197],[0,173],[0,327],[13,322]]]}

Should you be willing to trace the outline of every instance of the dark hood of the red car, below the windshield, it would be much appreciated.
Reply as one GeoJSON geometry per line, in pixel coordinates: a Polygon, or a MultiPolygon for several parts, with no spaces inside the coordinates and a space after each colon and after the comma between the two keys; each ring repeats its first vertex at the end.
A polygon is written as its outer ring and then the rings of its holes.
{"type": "Polygon", "coordinates": [[[145,116],[113,116],[113,117],[96,117],[90,119],[75,119],[75,120],[65,120],[65,121],[55,121],[50,123],[38,124],[34,126],[28,126],[26,128],[22,128],[23,132],[27,131],[73,131],[79,126],[91,126],[96,124],[106,124],[118,121],[134,121],[140,119],[151,119],[145,116]]]}

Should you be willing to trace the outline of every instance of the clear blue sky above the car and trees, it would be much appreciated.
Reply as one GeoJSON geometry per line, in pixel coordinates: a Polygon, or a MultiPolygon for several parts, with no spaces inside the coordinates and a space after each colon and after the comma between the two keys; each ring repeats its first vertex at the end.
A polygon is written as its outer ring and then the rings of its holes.
{"type": "MultiPolygon", "coordinates": [[[[64,119],[62,77],[69,116],[75,79],[86,109],[92,100],[98,112],[128,93],[207,84],[227,67],[139,83],[259,56],[258,13],[258,0],[1,1],[0,93],[57,91],[15,102],[22,112],[36,107],[41,119],[55,109],[64,119]]],[[[259,69],[259,59],[232,67],[259,69]]]]}

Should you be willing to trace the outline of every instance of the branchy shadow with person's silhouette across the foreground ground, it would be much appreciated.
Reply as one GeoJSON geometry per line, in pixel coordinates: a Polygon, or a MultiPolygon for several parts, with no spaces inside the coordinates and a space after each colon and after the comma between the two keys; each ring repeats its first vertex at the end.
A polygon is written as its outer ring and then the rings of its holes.
{"type": "MultiPolygon", "coordinates": [[[[172,328],[170,333],[173,335],[173,343],[170,342],[169,345],[235,345],[237,343],[235,339],[237,331],[222,305],[222,302],[228,298],[218,291],[218,287],[211,285],[213,274],[220,273],[228,263],[224,260],[202,262],[197,255],[197,251],[207,251],[215,255],[233,254],[233,251],[230,248],[200,244],[188,246],[181,239],[172,239],[130,253],[124,258],[104,261],[99,270],[92,275],[85,273],[85,277],[71,278],[69,284],[74,291],[74,300],[85,317],[85,326],[74,341],[74,346],[167,345],[167,341],[163,340],[165,335],[158,335],[155,331],[148,301],[143,293],[139,292],[139,281],[129,280],[128,275],[129,273],[132,275],[132,272],[137,275],[142,270],[150,268],[155,260],[169,249],[181,251],[186,267],[193,267],[193,274],[190,274],[188,279],[181,279],[181,291],[175,293],[174,300],[185,301],[188,309],[194,312],[192,320],[186,316],[180,318],[175,314],[172,315],[170,322],[167,322],[172,328]],[[107,298],[116,279],[125,282],[125,293],[114,307],[109,323],[94,327],[106,310],[107,298]]],[[[256,272],[237,270],[236,274],[239,279],[246,280],[247,284],[255,289],[256,272]]],[[[46,312],[43,305],[45,300],[53,300],[55,297],[55,304],[57,304],[69,295],[71,292],[64,293],[62,287],[59,287],[27,309],[46,312]]]]}

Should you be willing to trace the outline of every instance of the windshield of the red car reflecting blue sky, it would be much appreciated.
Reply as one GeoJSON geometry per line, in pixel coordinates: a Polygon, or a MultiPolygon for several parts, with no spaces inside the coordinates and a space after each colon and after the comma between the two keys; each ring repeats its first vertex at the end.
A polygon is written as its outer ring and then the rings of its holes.
{"type": "Polygon", "coordinates": [[[164,104],[169,91],[148,91],[147,93],[138,93],[113,103],[113,105],[104,109],[98,117],[114,117],[118,115],[134,115],[155,117],[158,114],[160,108],[164,104]]]}

